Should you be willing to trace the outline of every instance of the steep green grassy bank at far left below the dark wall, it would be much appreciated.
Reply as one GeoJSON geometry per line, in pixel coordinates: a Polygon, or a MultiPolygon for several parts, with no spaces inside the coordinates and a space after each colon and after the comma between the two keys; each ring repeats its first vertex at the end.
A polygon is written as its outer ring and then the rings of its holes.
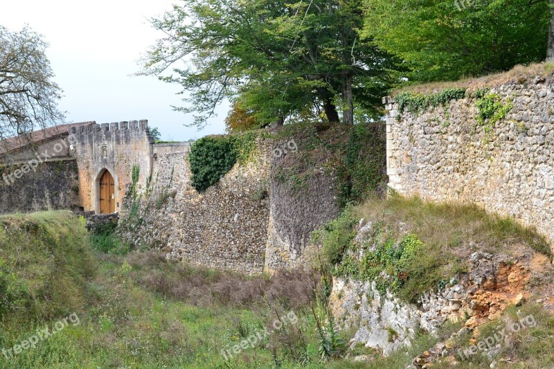
{"type": "Polygon", "coordinates": [[[78,217],[66,211],[0,216],[0,245],[3,327],[69,314],[82,305],[96,262],[78,217]]]}

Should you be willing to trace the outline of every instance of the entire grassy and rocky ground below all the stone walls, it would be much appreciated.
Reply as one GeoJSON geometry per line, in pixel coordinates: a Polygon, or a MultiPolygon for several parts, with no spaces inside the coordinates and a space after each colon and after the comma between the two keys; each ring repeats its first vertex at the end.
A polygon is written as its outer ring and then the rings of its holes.
{"type": "Polygon", "coordinates": [[[66,212],[0,222],[0,340],[6,350],[30,342],[10,359],[6,351],[3,368],[404,368],[418,356],[438,368],[454,361],[460,368],[554,364],[548,343],[554,268],[546,242],[533,229],[475,206],[368,199],[314,235],[324,245],[317,270],[253,277],[172,262],[159,251],[129,253],[109,230],[88,235],[84,222],[66,212]],[[476,268],[476,254],[490,264],[476,268]],[[466,289],[477,277],[481,288],[467,303],[460,298],[455,314],[427,314],[430,325],[406,324],[405,331],[375,325],[395,352],[383,357],[379,346],[365,347],[372,339],[360,328],[366,314],[375,314],[375,301],[383,321],[390,307],[391,314],[421,314],[422,296],[440,296],[454,285],[466,289]],[[339,332],[325,311],[334,313],[339,332]],[[283,327],[272,327],[276,321],[283,327]],[[478,350],[465,361],[455,356],[518,321],[522,329],[506,330],[494,350],[478,350]],[[53,336],[32,345],[44,327],[53,336]],[[264,328],[269,334],[260,333],[264,328]],[[324,361],[320,329],[328,340],[324,361]],[[354,338],[348,350],[339,337],[354,338]]]}

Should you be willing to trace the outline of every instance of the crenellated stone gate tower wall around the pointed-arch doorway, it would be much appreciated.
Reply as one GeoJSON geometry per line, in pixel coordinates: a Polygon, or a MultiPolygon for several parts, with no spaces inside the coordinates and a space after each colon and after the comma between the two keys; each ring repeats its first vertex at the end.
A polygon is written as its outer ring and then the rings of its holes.
{"type": "Polygon", "coordinates": [[[152,144],[148,120],[80,125],[71,127],[76,138],[80,203],[84,210],[99,213],[98,180],[109,170],[115,181],[116,212],[125,190],[132,183],[132,168],[139,167],[139,183],[146,183],[152,171],[152,144]]]}

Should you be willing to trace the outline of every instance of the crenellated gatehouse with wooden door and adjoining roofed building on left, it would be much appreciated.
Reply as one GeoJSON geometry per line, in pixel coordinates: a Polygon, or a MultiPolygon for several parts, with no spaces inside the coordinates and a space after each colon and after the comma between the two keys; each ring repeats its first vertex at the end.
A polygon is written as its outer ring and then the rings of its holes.
{"type": "Polygon", "coordinates": [[[9,138],[0,147],[0,213],[118,213],[133,168],[140,183],[150,178],[157,146],[148,120],[57,125],[9,138]]]}

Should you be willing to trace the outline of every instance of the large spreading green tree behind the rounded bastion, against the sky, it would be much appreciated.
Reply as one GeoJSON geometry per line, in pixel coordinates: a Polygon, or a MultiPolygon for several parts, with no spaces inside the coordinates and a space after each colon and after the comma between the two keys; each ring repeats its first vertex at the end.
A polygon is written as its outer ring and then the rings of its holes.
{"type": "Polygon", "coordinates": [[[181,84],[188,106],[174,108],[196,113],[201,127],[225,98],[250,102],[262,124],[306,107],[352,123],[355,107],[378,116],[394,81],[391,57],[358,37],[363,19],[361,0],[186,1],[152,20],[166,37],[141,73],[181,84]]]}

